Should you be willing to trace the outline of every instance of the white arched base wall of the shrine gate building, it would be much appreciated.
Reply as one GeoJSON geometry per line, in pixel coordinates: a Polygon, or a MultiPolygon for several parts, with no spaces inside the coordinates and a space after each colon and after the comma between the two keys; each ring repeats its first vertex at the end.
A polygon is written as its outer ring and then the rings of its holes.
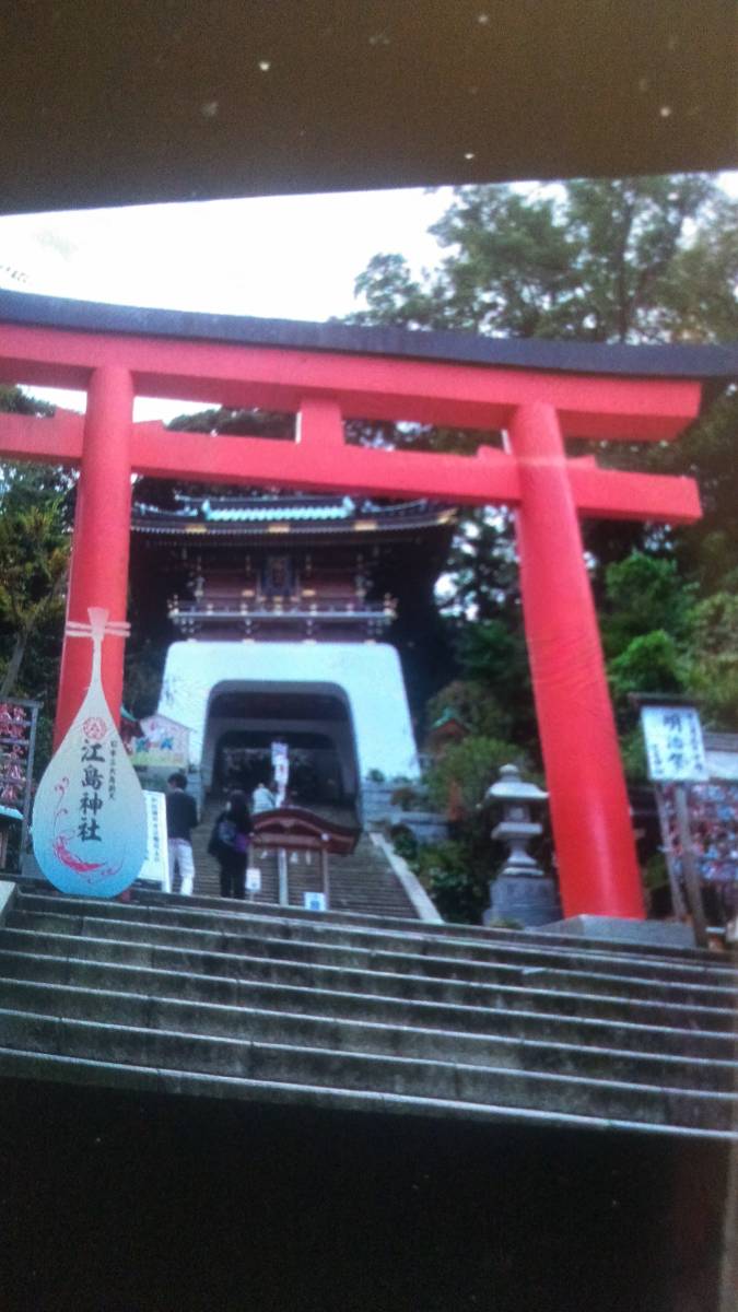
{"type": "Polygon", "coordinates": [[[418,778],[399,656],[387,643],[173,643],[159,711],[188,726],[197,765],[205,754],[213,695],[228,689],[334,693],[349,712],[358,778],[369,770],[418,778]]]}

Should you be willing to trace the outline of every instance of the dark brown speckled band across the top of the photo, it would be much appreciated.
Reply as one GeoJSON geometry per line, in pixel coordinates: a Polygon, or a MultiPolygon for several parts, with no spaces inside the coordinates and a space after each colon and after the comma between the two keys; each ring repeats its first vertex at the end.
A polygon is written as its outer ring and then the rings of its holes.
{"type": "Polygon", "coordinates": [[[729,0],[14,0],[5,213],[735,164],[729,0]]]}

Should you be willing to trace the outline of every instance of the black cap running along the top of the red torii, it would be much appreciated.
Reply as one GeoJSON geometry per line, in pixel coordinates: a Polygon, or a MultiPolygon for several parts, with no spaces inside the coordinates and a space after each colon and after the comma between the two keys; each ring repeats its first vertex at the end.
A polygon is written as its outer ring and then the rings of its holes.
{"type": "Polygon", "coordinates": [[[721,384],[738,377],[738,342],[626,346],[548,341],[540,337],[500,338],[464,332],[361,328],[339,323],[148,310],[0,290],[0,325],[3,323],[243,346],[278,346],[298,352],[496,365],[546,373],[691,378],[712,383],[710,391],[720,390],[721,384]]]}

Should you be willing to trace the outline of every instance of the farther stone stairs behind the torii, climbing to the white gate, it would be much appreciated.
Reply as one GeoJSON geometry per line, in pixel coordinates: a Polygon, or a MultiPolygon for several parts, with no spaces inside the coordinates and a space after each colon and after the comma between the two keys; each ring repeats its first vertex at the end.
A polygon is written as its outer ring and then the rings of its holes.
{"type": "MultiPolygon", "coordinates": [[[[221,800],[209,799],[202,812],[202,820],[192,834],[194,857],[194,892],[206,897],[218,897],[218,863],[207,854],[210,833],[215,817],[223,808],[221,800]]],[[[335,819],[347,824],[351,816],[336,811],[335,819]]],[[[261,871],[261,890],[250,893],[251,904],[272,904],[280,900],[277,876],[277,853],[260,848],[256,842],[250,854],[250,866],[261,871]]],[[[368,834],[358,840],[351,857],[330,858],[331,909],[357,912],[376,916],[414,917],[412,903],[389,865],[386,857],[376,848],[368,834]]],[[[302,907],[303,893],[322,890],[320,863],[316,854],[295,851],[288,857],[288,883],[290,905],[302,907]]]]}

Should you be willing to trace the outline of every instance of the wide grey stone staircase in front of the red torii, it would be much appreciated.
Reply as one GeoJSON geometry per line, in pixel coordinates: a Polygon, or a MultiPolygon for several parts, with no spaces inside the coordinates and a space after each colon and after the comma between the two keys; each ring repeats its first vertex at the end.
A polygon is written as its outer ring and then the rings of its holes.
{"type": "Polygon", "coordinates": [[[16,886],[0,1077],[730,1138],[735,996],[699,951],[16,886]]]}

